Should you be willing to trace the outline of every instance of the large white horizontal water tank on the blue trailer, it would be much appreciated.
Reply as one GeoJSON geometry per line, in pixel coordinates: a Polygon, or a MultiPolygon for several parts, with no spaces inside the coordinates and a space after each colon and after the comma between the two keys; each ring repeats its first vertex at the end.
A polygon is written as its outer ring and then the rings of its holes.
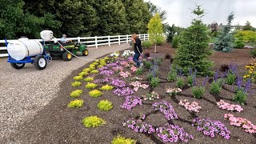
{"type": "Polygon", "coordinates": [[[36,56],[42,54],[42,44],[36,40],[29,38],[19,38],[18,40],[10,41],[7,45],[8,54],[15,60],[22,60],[27,56],[36,56]]]}

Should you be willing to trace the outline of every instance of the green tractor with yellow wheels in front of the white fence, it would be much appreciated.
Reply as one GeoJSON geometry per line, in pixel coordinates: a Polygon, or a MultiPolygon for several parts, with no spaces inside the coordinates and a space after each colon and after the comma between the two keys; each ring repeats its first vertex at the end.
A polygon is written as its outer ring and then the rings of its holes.
{"type": "MultiPolygon", "coordinates": [[[[86,45],[82,45],[81,43],[75,42],[75,43],[62,43],[62,46],[66,50],[69,50],[74,55],[83,55],[87,56],[89,54],[89,51],[87,50],[86,45]]],[[[50,53],[50,56],[52,58],[62,58],[64,61],[71,61],[73,58],[73,55],[70,54],[68,51],[66,51],[62,46],[58,45],[57,43],[50,42],[45,45],[45,50],[50,53]]]]}

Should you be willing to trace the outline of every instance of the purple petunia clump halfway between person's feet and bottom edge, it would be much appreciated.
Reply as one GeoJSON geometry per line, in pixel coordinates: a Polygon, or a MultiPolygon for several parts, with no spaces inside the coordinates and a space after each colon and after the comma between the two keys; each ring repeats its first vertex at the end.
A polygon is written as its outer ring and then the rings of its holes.
{"type": "Polygon", "coordinates": [[[126,102],[122,104],[122,109],[131,110],[131,108],[142,105],[142,99],[136,96],[126,96],[126,102]]]}

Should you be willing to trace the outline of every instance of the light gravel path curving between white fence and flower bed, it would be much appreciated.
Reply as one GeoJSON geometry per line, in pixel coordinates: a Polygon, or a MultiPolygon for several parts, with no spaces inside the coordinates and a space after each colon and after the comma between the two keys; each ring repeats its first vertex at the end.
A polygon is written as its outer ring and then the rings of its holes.
{"type": "MultiPolygon", "coordinates": [[[[83,58],[98,58],[127,48],[128,44],[89,48],[89,55],[83,58]]],[[[57,96],[64,78],[90,62],[78,58],[70,62],[54,60],[45,70],[36,70],[31,64],[26,64],[22,70],[14,70],[6,60],[0,58],[0,143],[8,142],[15,128],[33,118],[38,110],[57,96]]]]}

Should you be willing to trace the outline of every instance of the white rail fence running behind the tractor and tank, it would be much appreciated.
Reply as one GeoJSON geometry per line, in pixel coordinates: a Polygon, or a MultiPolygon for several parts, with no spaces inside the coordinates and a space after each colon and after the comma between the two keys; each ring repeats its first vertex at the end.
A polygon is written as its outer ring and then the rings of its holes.
{"type": "MultiPolygon", "coordinates": [[[[138,34],[138,37],[142,40],[148,40],[149,39],[149,34],[138,34]]],[[[111,44],[118,44],[120,45],[121,43],[128,43],[130,41],[131,35],[116,35],[116,36],[101,36],[101,37],[83,37],[83,38],[66,38],[67,40],[72,40],[72,41],[77,41],[81,43],[85,43],[86,46],[88,47],[96,47],[98,46],[111,46],[111,44]]],[[[42,42],[42,39],[35,39],[38,42],[42,42]]],[[[57,38],[58,41],[61,40],[61,38],[57,38]]],[[[11,42],[13,40],[8,40],[7,42],[11,42]]],[[[52,40],[54,41],[54,40],[52,40]]],[[[6,51],[6,46],[4,45],[6,43],[5,40],[0,40],[0,51],[4,50],[6,51]]],[[[7,52],[4,54],[0,54],[0,57],[7,57],[8,54],[7,52]]]]}

